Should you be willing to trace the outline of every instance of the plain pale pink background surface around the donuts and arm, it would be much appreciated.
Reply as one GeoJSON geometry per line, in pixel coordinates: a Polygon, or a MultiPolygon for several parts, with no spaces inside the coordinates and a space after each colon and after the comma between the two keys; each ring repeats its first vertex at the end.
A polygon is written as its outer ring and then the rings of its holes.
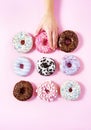
{"type": "Polygon", "coordinates": [[[66,53],[56,51],[41,54],[34,50],[19,54],[12,46],[12,37],[20,31],[35,33],[44,14],[43,0],[0,0],[0,130],[91,130],[91,0],[55,0],[55,14],[60,31],[71,29],[78,33],[79,46],[72,52],[81,60],[81,71],[66,76],[59,69],[50,79],[59,86],[66,79],[81,83],[78,101],[59,97],[48,103],[37,96],[20,102],[13,97],[16,82],[28,80],[36,87],[48,77],[36,69],[27,77],[17,76],[13,63],[18,56],[29,57],[34,63],[42,56],[54,58],[58,64],[66,53]],[[39,78],[39,79],[38,79],[39,78]]]}

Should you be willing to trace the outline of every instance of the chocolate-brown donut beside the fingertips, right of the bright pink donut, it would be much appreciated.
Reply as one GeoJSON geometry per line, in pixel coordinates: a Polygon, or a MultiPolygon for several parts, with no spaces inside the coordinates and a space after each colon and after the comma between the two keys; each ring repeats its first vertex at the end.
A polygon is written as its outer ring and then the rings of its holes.
{"type": "Polygon", "coordinates": [[[58,48],[64,52],[72,52],[78,46],[78,36],[71,30],[66,30],[59,35],[58,48]]]}

